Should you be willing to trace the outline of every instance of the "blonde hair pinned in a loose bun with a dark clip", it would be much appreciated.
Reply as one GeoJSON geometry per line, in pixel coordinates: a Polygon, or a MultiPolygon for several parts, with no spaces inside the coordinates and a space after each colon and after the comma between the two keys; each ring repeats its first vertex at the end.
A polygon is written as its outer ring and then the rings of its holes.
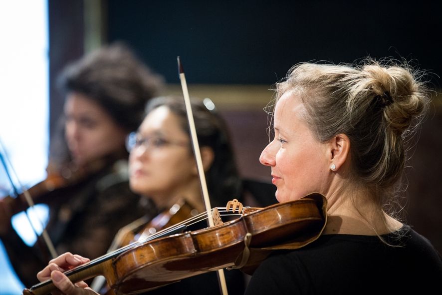
{"type": "Polygon", "coordinates": [[[395,192],[406,162],[406,138],[422,121],[430,92],[405,62],[365,59],[355,64],[300,63],[276,84],[276,100],[299,94],[305,120],[325,142],[346,134],[351,142],[352,181],[381,206],[395,192]]]}

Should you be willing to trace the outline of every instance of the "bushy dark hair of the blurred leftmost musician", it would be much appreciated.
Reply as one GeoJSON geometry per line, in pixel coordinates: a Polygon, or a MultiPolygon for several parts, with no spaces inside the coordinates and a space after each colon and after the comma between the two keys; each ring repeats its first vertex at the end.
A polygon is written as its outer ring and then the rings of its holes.
{"type": "Polygon", "coordinates": [[[124,129],[136,129],[147,101],[158,95],[163,78],[151,72],[122,42],[99,48],[64,68],[58,86],[100,104],[124,129]]]}

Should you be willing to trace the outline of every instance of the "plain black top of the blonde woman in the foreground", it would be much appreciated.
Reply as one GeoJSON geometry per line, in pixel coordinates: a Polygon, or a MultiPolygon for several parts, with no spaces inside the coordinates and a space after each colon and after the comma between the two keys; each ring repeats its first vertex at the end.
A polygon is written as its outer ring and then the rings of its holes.
{"type": "Polygon", "coordinates": [[[294,251],[274,253],[245,294],[440,294],[442,258],[409,226],[403,236],[323,235],[294,251]],[[396,238],[395,238],[396,237],[396,238]]]}

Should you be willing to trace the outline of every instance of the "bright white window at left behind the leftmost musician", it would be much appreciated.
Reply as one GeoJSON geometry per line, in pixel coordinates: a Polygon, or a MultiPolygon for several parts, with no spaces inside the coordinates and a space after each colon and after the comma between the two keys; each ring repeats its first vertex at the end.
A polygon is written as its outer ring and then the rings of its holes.
{"type": "MultiPolygon", "coordinates": [[[[11,164],[8,170],[14,185],[18,189],[20,184],[28,188],[46,176],[49,101],[47,0],[0,1],[0,36],[0,152],[11,164]]],[[[11,185],[0,164],[1,197],[11,192],[11,185]]],[[[26,221],[17,223],[17,226],[26,228],[26,221]]],[[[0,294],[21,294],[23,286],[13,277],[1,246],[0,294]]]]}

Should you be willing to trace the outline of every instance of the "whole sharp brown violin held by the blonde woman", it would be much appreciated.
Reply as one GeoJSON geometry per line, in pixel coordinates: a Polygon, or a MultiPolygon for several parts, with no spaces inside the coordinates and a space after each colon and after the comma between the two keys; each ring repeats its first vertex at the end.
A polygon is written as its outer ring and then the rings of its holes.
{"type": "MultiPolygon", "coordinates": [[[[129,295],[223,268],[252,273],[271,252],[297,249],[316,240],[325,227],[325,210],[325,198],[314,193],[242,213],[240,218],[213,227],[177,233],[196,219],[201,220],[206,214],[202,213],[158,232],[148,241],[128,245],[65,275],[73,283],[102,275],[116,294],[129,295]]],[[[213,211],[217,216],[216,212],[227,212],[228,208],[213,211]]],[[[54,290],[48,280],[25,289],[23,295],[45,295],[54,290]]]]}

